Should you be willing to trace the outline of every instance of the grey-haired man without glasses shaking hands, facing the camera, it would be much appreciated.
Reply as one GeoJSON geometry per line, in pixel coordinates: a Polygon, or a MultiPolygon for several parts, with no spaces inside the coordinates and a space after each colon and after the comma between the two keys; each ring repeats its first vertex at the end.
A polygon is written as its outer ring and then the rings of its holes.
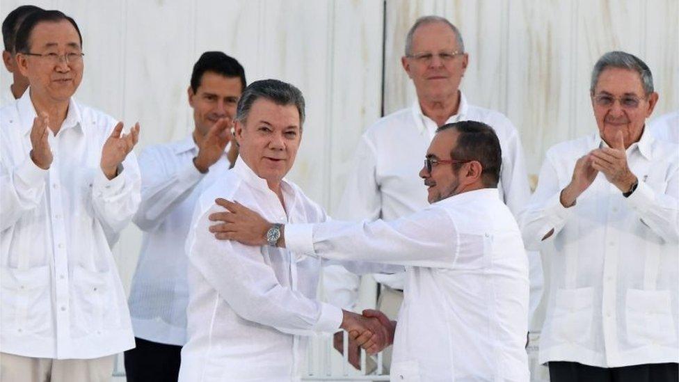
{"type": "MultiPolygon", "coordinates": [[[[199,198],[186,240],[189,254],[188,342],[179,380],[293,381],[301,376],[307,336],[349,331],[369,351],[390,340],[376,318],[317,301],[321,260],[274,245],[282,224],[326,221],[323,209],[284,177],[302,137],[302,93],[273,79],[251,83],[238,102],[239,159],[199,198]],[[262,244],[216,239],[209,216],[218,197],[237,200],[277,224],[262,244]]],[[[379,271],[378,264],[346,263],[379,271]]],[[[399,269],[401,268],[401,269],[399,269]]]]}

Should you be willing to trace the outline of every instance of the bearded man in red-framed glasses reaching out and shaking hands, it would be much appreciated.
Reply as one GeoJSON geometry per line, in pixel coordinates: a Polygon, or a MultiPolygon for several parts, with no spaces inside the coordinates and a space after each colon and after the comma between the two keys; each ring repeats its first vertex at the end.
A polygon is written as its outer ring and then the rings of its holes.
{"type": "MultiPolygon", "coordinates": [[[[493,129],[463,121],[438,129],[420,177],[429,207],[394,221],[330,221],[283,228],[278,246],[310,257],[406,266],[392,381],[528,381],[524,349],[528,260],[497,193],[502,154],[493,129]]],[[[237,203],[214,216],[216,236],[261,245],[271,220],[237,203]]]]}

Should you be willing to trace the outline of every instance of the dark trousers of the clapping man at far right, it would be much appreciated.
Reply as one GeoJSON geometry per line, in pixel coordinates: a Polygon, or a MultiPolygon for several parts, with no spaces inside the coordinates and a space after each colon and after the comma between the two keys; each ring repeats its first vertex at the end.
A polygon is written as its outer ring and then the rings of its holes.
{"type": "Polygon", "coordinates": [[[551,382],[676,382],[678,363],[595,367],[575,362],[550,362],[551,382]]]}

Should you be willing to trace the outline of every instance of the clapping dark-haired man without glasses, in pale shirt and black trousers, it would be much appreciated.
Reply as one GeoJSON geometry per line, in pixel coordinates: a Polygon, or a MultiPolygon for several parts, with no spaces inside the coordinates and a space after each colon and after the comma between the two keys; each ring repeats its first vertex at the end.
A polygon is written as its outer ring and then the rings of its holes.
{"type": "Polygon", "coordinates": [[[206,51],[187,90],[193,131],[139,156],[141,205],[133,221],[144,236],[129,294],[136,347],[125,352],[127,382],[177,381],[189,302],[184,243],[198,196],[236,161],[231,127],[245,86],[238,61],[206,51]]]}

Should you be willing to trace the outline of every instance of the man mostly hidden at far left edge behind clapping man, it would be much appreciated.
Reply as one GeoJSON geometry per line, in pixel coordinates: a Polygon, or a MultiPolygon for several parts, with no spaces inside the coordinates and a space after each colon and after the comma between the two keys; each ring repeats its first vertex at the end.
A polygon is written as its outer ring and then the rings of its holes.
{"type": "Polygon", "coordinates": [[[5,49],[2,51],[2,61],[5,64],[5,68],[8,72],[12,73],[12,84],[9,87],[4,87],[1,89],[1,101],[0,106],[7,106],[13,103],[15,100],[19,99],[29,87],[29,79],[21,74],[21,71],[17,67],[17,51],[14,49],[14,42],[17,36],[17,29],[19,25],[24,21],[26,16],[35,12],[36,10],[42,10],[36,6],[19,6],[12,12],[10,12],[7,17],[2,22],[2,42],[5,49]]]}

